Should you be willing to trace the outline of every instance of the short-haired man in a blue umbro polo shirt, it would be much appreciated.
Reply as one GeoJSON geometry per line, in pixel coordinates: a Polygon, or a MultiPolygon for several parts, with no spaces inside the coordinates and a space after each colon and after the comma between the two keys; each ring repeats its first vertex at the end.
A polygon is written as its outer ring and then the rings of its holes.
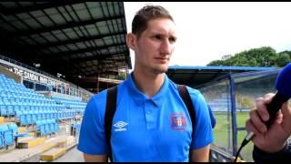
{"type": "Polygon", "coordinates": [[[135,51],[135,69],[117,86],[111,145],[105,139],[105,90],[85,109],[78,145],[85,161],[107,161],[108,147],[113,161],[208,161],[213,132],[205,98],[187,87],[196,114],[192,129],[176,84],[165,74],[176,43],[172,16],[162,6],[146,5],[126,43],[135,51]]]}

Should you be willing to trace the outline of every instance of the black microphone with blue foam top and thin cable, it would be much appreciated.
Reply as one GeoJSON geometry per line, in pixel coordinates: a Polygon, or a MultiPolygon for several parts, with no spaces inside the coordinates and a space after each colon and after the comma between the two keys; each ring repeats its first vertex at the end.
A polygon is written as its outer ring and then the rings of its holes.
{"type": "MultiPolygon", "coordinates": [[[[282,104],[285,103],[291,97],[291,63],[287,64],[276,77],[276,95],[272,98],[271,102],[266,105],[266,109],[269,113],[269,119],[265,122],[266,127],[270,125],[276,119],[276,113],[281,108],[282,104]]],[[[236,154],[236,159],[239,151],[246,146],[246,144],[255,137],[254,132],[249,132],[246,138],[243,140],[240,149],[236,154]]],[[[235,159],[235,161],[236,161],[235,159]]]]}

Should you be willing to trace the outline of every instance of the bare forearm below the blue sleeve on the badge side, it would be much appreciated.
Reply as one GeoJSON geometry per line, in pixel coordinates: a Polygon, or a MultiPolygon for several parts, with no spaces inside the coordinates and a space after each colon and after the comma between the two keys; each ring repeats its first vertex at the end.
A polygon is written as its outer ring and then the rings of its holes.
{"type": "Polygon", "coordinates": [[[210,146],[201,149],[194,149],[190,151],[190,162],[208,162],[209,161],[210,146]]]}

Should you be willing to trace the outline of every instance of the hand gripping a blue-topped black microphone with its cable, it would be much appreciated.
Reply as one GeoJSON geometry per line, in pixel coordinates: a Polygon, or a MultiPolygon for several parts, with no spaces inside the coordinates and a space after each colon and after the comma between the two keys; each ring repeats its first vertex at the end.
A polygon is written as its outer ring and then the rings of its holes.
{"type": "Polygon", "coordinates": [[[274,97],[266,94],[265,98],[257,98],[256,109],[250,112],[250,118],[246,121],[246,130],[251,132],[244,139],[237,155],[253,138],[256,147],[266,152],[275,152],[284,147],[286,138],[291,134],[291,109],[286,103],[291,97],[291,63],[277,76],[276,90],[274,97]]]}

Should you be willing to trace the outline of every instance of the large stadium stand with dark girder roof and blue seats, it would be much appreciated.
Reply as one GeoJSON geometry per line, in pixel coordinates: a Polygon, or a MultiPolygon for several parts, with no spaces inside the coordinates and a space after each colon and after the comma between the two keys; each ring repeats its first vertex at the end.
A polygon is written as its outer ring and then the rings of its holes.
{"type": "MultiPolygon", "coordinates": [[[[93,92],[115,86],[123,78],[116,81],[112,77],[128,75],[128,68],[132,68],[125,44],[123,2],[0,4],[0,73],[5,74],[0,81],[0,125],[13,122],[25,132],[37,131],[45,139],[67,134],[72,121],[82,119],[85,102],[93,92]],[[66,6],[72,8],[62,11],[66,6]],[[77,16],[64,17],[72,12],[77,16]],[[110,20],[112,24],[107,24],[110,20]]],[[[76,127],[79,129],[79,123],[76,127]]],[[[20,140],[21,148],[35,147],[43,141],[20,140]]],[[[15,150],[0,154],[0,161],[26,161],[22,157],[34,154],[33,150],[15,150]]]]}

